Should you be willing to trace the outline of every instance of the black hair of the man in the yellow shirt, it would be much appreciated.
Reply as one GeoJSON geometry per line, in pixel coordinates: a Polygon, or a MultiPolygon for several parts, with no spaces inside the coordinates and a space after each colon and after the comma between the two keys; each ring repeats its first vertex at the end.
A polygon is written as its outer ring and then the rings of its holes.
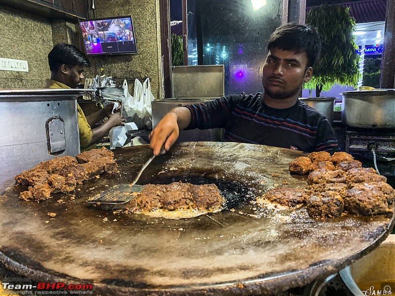
{"type": "Polygon", "coordinates": [[[86,55],[76,46],[66,43],[58,43],[48,54],[48,64],[51,71],[56,71],[63,64],[71,67],[89,67],[90,62],[86,55]]]}

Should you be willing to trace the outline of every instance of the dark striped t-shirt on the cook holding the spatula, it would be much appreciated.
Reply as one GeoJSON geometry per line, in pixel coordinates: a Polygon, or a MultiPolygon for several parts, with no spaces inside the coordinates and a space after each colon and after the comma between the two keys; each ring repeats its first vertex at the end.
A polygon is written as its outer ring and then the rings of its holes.
{"type": "Polygon", "coordinates": [[[340,151],[324,115],[299,100],[290,108],[271,108],[262,102],[261,95],[230,95],[185,106],[191,111],[191,124],[187,129],[224,128],[227,142],[305,152],[340,151]]]}

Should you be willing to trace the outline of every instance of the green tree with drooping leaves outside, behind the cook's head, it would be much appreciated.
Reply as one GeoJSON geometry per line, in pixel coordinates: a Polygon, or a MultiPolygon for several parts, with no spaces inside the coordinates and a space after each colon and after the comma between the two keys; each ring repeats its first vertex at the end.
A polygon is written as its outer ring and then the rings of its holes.
{"type": "Polygon", "coordinates": [[[350,8],[327,4],[312,7],[306,23],[322,36],[322,50],[313,68],[312,79],[305,88],[316,89],[316,97],[319,97],[321,91],[328,91],[335,83],[356,86],[359,55],[353,37],[356,22],[350,16],[350,8]]]}

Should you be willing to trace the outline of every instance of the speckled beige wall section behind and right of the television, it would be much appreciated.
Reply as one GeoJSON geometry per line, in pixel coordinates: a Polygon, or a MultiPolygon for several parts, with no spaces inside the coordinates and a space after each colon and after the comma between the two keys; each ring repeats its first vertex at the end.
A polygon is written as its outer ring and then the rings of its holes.
{"type": "MultiPolygon", "coordinates": [[[[124,77],[151,78],[151,89],[156,99],[161,96],[161,50],[159,29],[159,0],[112,0],[95,1],[97,18],[131,15],[138,54],[98,56],[91,58],[91,69],[85,76],[100,74],[100,65],[104,74],[124,77]]],[[[133,85],[129,85],[133,95],[133,85]]]]}

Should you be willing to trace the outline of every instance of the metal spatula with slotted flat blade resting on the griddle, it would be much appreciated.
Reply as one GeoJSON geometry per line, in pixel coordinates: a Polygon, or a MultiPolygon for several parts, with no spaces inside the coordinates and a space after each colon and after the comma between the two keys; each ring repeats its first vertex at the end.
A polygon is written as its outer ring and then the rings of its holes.
{"type": "Polygon", "coordinates": [[[141,174],[144,172],[146,167],[151,163],[151,161],[155,158],[155,154],[151,156],[150,159],[143,165],[140,169],[139,173],[130,184],[119,184],[111,187],[108,190],[103,191],[100,194],[96,194],[95,196],[89,198],[87,201],[93,204],[100,204],[102,208],[106,210],[117,210],[123,207],[123,204],[132,200],[136,193],[141,192],[143,190],[143,185],[135,185],[135,183],[139,180],[141,174]]]}

